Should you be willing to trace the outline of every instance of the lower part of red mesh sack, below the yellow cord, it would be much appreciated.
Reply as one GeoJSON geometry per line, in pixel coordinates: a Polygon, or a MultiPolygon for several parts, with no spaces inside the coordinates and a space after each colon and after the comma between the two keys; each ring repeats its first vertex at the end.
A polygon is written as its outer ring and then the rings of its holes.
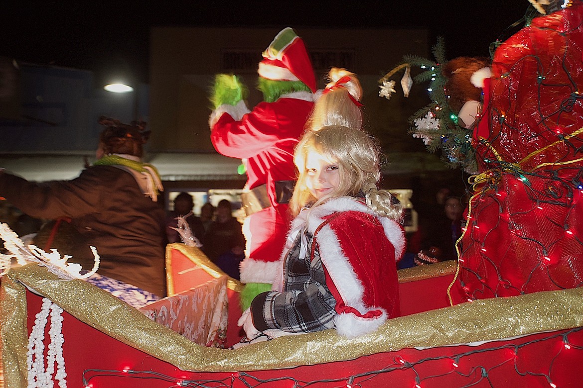
{"type": "Polygon", "coordinates": [[[567,193],[546,177],[532,177],[529,186],[505,174],[496,191],[473,199],[459,278],[470,298],[581,286],[583,194],[568,200],[567,193]],[[537,202],[549,186],[560,200],[537,202]]]}

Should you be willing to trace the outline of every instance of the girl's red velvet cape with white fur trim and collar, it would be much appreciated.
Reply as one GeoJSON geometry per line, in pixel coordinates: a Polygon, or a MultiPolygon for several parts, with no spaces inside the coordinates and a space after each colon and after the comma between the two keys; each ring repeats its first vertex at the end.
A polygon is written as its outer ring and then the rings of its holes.
{"type": "MultiPolygon", "coordinates": [[[[314,259],[319,252],[326,286],[336,300],[334,326],[340,335],[373,332],[400,314],[396,261],[405,250],[405,232],[398,223],[362,201],[335,198],[294,220],[286,252],[306,225],[314,236],[307,255],[314,259]]],[[[277,291],[283,289],[284,257],[273,285],[277,291]]]]}

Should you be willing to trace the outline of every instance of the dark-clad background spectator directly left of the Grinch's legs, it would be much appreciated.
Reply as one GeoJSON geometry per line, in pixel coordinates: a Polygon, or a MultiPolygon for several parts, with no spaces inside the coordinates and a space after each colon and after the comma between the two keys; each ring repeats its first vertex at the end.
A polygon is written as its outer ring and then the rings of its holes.
{"type": "Polygon", "coordinates": [[[221,200],[215,220],[202,239],[202,251],[227,275],[239,278],[239,263],[245,257],[243,227],[232,215],[231,202],[221,200]]]}

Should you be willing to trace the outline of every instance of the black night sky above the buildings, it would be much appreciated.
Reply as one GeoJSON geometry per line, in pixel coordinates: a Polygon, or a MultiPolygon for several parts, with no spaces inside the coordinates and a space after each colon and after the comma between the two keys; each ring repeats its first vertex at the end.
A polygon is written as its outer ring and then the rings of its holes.
{"type": "Polygon", "coordinates": [[[524,22],[510,31],[505,29],[532,10],[528,0],[352,0],[331,4],[318,0],[4,0],[0,4],[0,55],[96,73],[106,67],[125,67],[147,82],[152,26],[290,26],[300,31],[301,27],[427,27],[432,37],[445,37],[447,58],[488,56],[490,42],[517,31],[524,22]]]}

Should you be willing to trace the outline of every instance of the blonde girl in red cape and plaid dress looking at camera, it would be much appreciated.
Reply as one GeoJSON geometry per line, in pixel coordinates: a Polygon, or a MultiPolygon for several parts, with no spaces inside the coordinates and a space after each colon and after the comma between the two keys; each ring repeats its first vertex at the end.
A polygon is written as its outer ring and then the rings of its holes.
{"type": "MultiPolygon", "coordinates": [[[[355,79],[349,77],[347,82],[355,79]]],[[[340,86],[329,93],[347,91],[340,86]]],[[[354,96],[347,101],[358,102],[354,96]]],[[[353,127],[308,130],[296,148],[299,177],[290,202],[296,218],[280,279],[255,297],[239,321],[250,339],[332,328],[354,337],[399,315],[401,208],[376,186],[378,148],[361,130],[361,120],[343,119],[353,127]]]]}

